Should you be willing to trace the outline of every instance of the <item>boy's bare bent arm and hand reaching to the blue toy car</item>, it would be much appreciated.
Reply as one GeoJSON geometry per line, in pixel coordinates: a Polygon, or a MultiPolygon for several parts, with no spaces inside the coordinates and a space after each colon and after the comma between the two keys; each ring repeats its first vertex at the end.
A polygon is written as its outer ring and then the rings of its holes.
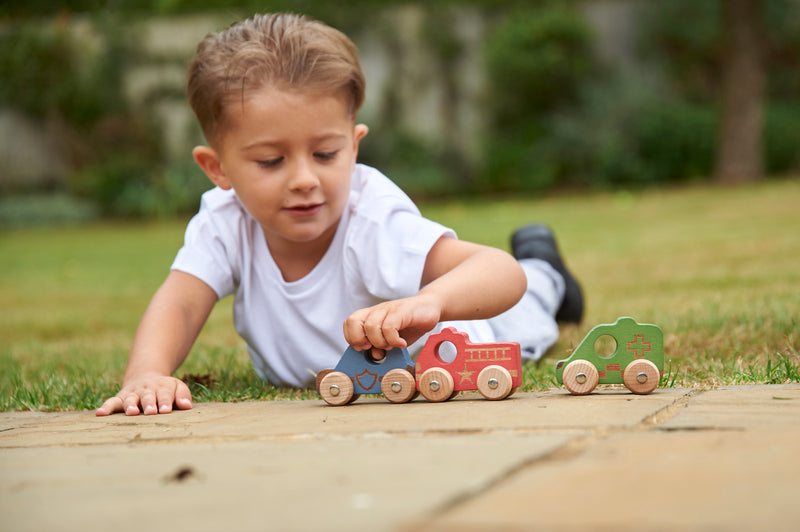
{"type": "Polygon", "coordinates": [[[431,248],[414,296],[361,309],[347,318],[344,335],[356,349],[408,347],[440,321],[491,318],[514,306],[527,287],[508,253],[453,238],[431,248]]]}

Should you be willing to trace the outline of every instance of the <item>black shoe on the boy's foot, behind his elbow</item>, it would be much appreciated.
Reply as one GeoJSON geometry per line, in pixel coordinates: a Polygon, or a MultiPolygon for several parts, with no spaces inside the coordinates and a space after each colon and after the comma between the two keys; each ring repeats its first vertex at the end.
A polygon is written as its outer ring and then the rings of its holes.
{"type": "Polygon", "coordinates": [[[511,251],[519,259],[542,259],[564,278],[564,299],[556,312],[556,321],[579,324],[583,319],[583,294],[578,281],[564,266],[556,239],[549,227],[531,224],[511,236],[511,251]]]}

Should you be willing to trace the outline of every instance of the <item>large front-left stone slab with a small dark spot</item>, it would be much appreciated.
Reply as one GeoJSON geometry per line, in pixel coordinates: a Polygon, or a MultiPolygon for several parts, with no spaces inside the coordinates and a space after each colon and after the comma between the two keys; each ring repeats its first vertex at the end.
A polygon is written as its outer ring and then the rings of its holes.
{"type": "Polygon", "coordinates": [[[2,530],[389,530],[570,434],[5,449],[2,530]],[[502,450],[502,452],[498,452],[502,450]],[[167,526],[169,524],[169,526],[167,526]]]}

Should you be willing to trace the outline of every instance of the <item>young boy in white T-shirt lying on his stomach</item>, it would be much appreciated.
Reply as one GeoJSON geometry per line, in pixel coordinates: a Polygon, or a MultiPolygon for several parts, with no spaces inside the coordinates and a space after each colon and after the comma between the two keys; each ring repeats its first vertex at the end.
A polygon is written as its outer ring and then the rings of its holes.
{"type": "Polygon", "coordinates": [[[187,92],[208,141],[194,159],[216,188],[98,416],[191,408],[172,374],[228,294],[256,372],[276,385],[310,385],[347,344],[375,358],[414,352],[452,320],[471,320],[455,325],[473,341],[517,340],[538,357],[558,337],[559,309],[580,320],[580,289],[547,228],[517,232],[515,253],[528,257],[518,262],[457,240],[356,164],[364,77],[337,30],[288,14],[234,24],[200,43],[187,92]]]}

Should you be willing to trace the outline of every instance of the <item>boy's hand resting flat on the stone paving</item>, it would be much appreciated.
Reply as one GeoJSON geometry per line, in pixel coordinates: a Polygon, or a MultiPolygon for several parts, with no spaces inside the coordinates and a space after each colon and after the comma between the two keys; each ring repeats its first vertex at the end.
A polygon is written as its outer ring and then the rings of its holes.
{"type": "Polygon", "coordinates": [[[139,377],[127,383],[120,392],[103,403],[95,411],[97,416],[107,416],[115,412],[136,416],[168,414],[173,406],[180,410],[192,408],[192,393],[180,379],[164,375],[139,377]]]}

